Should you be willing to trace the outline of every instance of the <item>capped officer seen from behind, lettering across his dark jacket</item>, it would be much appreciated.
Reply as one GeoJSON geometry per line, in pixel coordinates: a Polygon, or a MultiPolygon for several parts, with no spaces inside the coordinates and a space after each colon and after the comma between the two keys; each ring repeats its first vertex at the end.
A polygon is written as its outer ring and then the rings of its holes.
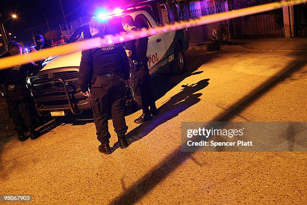
{"type": "MultiPolygon", "coordinates": [[[[103,38],[105,35],[104,23],[97,18],[91,20],[89,29],[92,38],[103,38]]],[[[111,44],[82,51],[79,85],[85,96],[90,95],[97,139],[101,142],[98,150],[105,154],[111,154],[108,131],[110,110],[119,146],[122,149],[128,146],[125,139],[128,127],[124,116],[125,83],[128,79],[129,62],[122,45],[111,44]]]]}

